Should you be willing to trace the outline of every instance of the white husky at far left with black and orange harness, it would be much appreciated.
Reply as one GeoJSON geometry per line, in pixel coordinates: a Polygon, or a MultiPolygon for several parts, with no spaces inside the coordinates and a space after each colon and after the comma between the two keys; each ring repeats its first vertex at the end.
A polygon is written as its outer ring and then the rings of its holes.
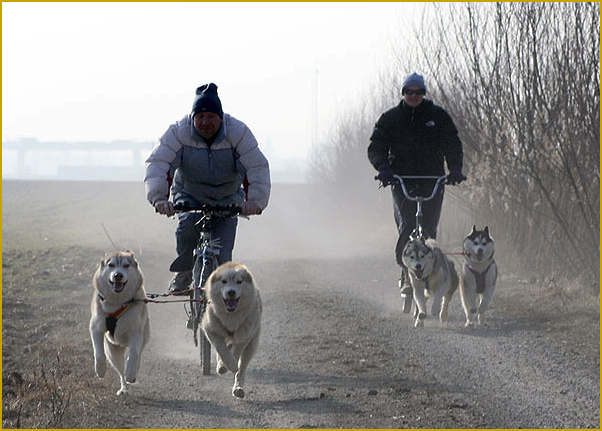
{"type": "Polygon", "coordinates": [[[138,376],[140,354],[150,337],[143,276],[134,254],[129,250],[107,253],[93,283],[90,336],[94,370],[98,377],[104,377],[108,356],[121,381],[117,395],[128,394],[130,384],[138,376]]]}

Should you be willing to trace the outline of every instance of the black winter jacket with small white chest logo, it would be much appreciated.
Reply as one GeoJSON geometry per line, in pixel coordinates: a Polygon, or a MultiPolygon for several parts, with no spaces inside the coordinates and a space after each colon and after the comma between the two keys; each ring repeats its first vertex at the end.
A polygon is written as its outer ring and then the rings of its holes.
{"type": "Polygon", "coordinates": [[[445,175],[462,170],[462,142],[449,114],[428,99],[416,108],[405,101],[380,116],[370,136],[368,159],[397,175],[445,175]]]}

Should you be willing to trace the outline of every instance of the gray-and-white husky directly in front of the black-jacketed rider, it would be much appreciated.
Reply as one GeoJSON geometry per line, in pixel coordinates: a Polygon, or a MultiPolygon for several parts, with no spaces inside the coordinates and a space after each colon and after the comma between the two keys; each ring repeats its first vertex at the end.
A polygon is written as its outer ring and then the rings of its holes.
{"type": "Polygon", "coordinates": [[[447,322],[447,309],[458,288],[458,274],[451,260],[443,255],[433,239],[410,239],[403,249],[402,260],[408,268],[414,301],[418,308],[414,327],[424,326],[426,301],[433,298],[431,314],[447,322]]]}

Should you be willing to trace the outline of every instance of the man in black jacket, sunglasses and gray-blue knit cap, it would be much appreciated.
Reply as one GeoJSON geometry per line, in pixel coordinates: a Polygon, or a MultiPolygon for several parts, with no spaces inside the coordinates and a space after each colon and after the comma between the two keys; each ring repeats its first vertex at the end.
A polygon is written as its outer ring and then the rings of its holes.
{"type": "MultiPolygon", "coordinates": [[[[425,99],[424,78],[417,73],[403,81],[399,105],[380,116],[368,146],[368,159],[378,171],[383,184],[392,184],[395,222],[399,238],[395,247],[397,263],[401,266],[399,286],[402,295],[411,295],[408,270],[401,257],[410,234],[416,227],[416,203],[406,199],[393,174],[445,175],[444,161],[449,169],[447,184],[456,185],[466,179],[462,174],[462,142],[449,114],[432,101],[425,99]]],[[[430,195],[434,181],[405,181],[412,195],[430,195]]],[[[423,228],[429,238],[437,237],[437,225],[443,204],[444,186],[435,197],[423,203],[423,228]]]]}

